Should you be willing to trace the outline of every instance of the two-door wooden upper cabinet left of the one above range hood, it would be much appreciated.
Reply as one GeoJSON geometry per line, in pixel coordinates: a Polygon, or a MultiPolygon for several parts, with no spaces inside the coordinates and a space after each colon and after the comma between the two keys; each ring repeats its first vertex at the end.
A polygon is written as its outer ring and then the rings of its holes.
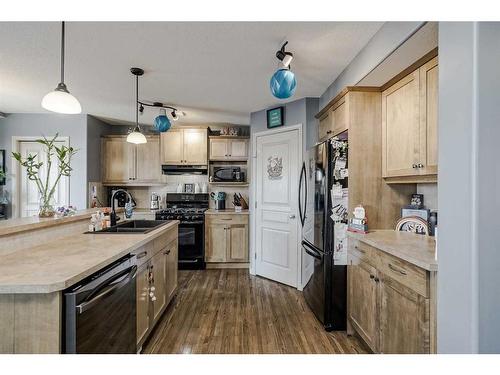
{"type": "Polygon", "coordinates": [[[134,145],[125,136],[102,138],[102,181],[104,184],[148,185],[161,181],[160,141],[147,136],[148,143],[134,145]]]}

